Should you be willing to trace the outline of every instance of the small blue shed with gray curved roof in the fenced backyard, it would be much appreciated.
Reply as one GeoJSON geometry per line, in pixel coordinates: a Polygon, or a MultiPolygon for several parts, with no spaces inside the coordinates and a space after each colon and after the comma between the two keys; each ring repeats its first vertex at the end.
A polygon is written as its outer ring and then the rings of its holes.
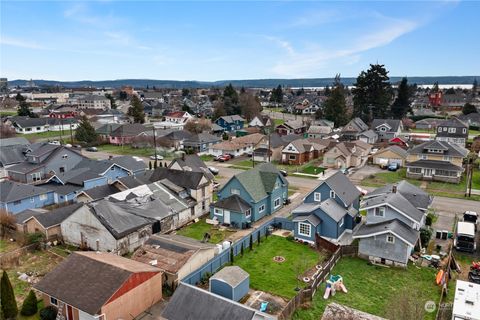
{"type": "Polygon", "coordinates": [[[250,275],[240,267],[225,267],[210,277],[210,292],[233,301],[240,301],[247,295],[250,275]]]}

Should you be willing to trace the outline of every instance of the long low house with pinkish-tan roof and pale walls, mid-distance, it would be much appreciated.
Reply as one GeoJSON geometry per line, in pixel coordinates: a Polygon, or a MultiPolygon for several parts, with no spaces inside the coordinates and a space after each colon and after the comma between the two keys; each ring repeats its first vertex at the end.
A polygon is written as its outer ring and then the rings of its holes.
{"type": "Polygon", "coordinates": [[[264,143],[266,143],[266,137],[263,134],[254,133],[216,143],[210,147],[208,154],[219,156],[229,153],[237,157],[251,153],[257,146],[264,143]]]}

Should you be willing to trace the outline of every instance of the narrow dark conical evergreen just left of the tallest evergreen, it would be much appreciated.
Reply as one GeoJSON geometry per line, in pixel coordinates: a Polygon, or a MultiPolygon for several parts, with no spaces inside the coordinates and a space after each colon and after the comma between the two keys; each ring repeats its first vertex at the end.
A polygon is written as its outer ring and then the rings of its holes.
{"type": "Polygon", "coordinates": [[[323,104],[323,116],[325,119],[333,121],[335,126],[344,126],[348,123],[345,89],[339,74],[335,76],[333,89],[323,104]]]}

